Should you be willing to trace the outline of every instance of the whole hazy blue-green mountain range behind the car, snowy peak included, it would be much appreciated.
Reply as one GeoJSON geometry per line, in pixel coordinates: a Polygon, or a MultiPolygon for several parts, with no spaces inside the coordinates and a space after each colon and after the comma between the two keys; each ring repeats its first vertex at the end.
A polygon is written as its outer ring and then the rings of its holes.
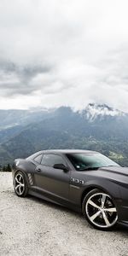
{"type": "Polygon", "coordinates": [[[83,148],[100,151],[128,166],[128,114],[105,104],[91,103],[77,112],[67,107],[9,110],[9,116],[8,113],[5,119],[3,116],[3,126],[0,131],[2,165],[45,148],[83,148]]]}

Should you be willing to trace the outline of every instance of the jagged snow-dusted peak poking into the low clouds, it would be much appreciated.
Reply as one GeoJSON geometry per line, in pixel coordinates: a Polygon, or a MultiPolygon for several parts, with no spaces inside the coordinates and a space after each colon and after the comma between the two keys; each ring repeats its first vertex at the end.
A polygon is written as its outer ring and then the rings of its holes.
{"type": "Polygon", "coordinates": [[[125,116],[126,113],[115,109],[115,108],[110,108],[108,107],[108,105],[106,104],[96,104],[96,103],[90,103],[85,109],[84,111],[82,111],[82,115],[90,120],[90,121],[94,121],[97,118],[100,119],[104,119],[107,116],[110,117],[115,117],[115,116],[125,116]]]}

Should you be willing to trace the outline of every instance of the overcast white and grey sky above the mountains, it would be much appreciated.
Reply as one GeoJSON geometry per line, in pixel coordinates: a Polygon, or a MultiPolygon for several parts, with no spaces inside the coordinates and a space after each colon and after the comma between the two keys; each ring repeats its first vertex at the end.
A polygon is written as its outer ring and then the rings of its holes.
{"type": "Polygon", "coordinates": [[[128,112],[127,0],[0,0],[0,108],[128,112]]]}

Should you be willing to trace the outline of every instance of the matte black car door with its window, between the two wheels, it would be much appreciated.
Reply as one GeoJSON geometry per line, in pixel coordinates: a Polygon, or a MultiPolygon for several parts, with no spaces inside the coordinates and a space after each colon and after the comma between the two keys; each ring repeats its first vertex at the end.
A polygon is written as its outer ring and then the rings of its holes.
{"type": "Polygon", "coordinates": [[[55,164],[67,166],[66,160],[59,154],[44,154],[41,164],[37,166],[35,183],[40,190],[50,196],[68,200],[70,171],[55,169],[55,164]]]}

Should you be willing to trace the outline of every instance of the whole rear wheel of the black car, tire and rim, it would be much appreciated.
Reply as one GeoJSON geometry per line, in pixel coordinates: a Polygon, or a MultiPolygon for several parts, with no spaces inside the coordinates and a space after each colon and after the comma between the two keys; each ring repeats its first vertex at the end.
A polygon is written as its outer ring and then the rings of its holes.
{"type": "Polygon", "coordinates": [[[24,172],[18,171],[15,173],[14,187],[16,195],[25,197],[28,194],[28,184],[24,172]]]}

